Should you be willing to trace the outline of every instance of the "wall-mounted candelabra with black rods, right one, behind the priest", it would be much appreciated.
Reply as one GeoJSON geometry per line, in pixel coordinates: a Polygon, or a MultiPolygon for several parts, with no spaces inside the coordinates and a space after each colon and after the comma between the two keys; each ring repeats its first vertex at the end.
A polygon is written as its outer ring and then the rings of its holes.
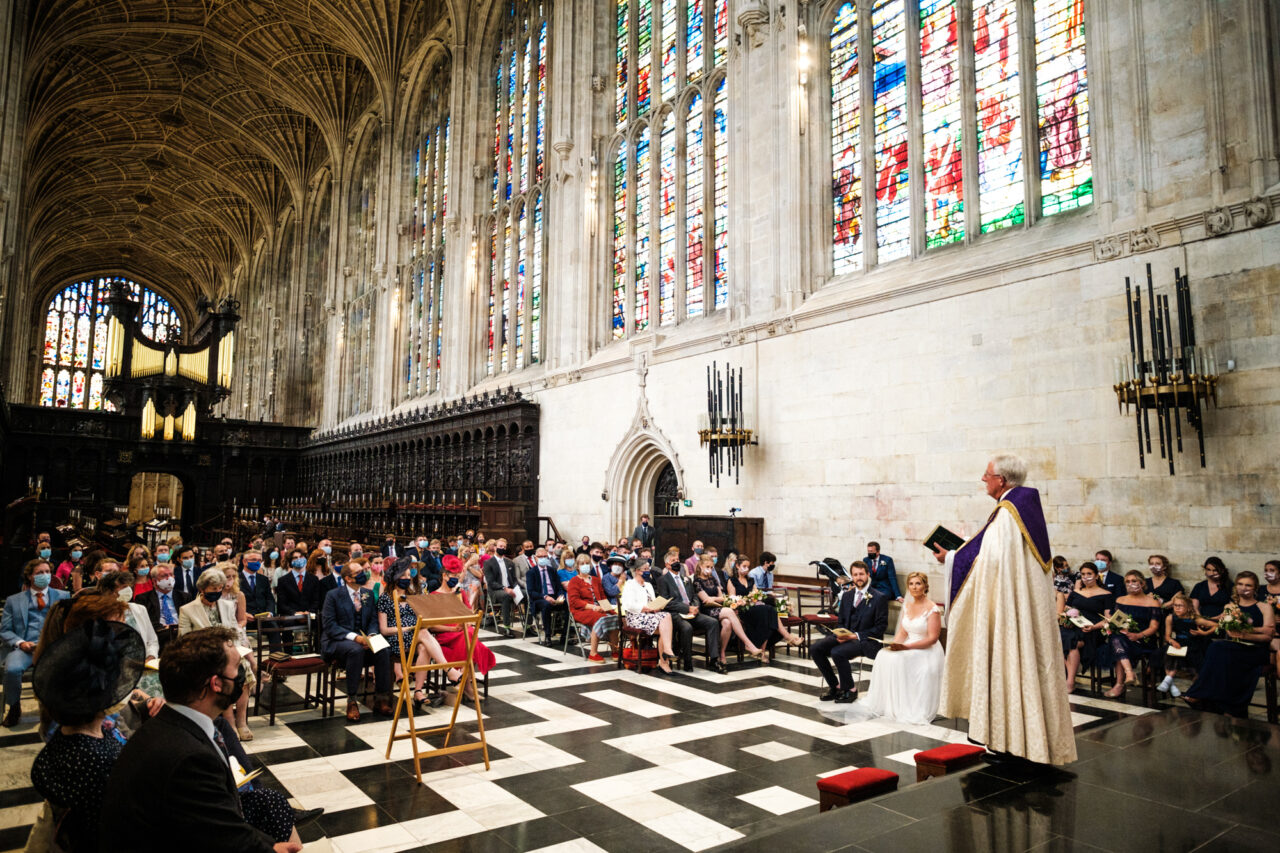
{"type": "Polygon", "coordinates": [[[1204,412],[1217,405],[1217,365],[1213,353],[1196,343],[1192,296],[1188,277],[1174,269],[1174,307],[1178,338],[1174,338],[1169,295],[1156,293],[1147,264],[1147,309],[1143,311],[1142,284],[1132,287],[1124,279],[1129,314],[1129,355],[1115,360],[1116,401],[1120,410],[1134,407],[1138,433],[1138,464],[1147,467],[1151,453],[1151,415],[1155,414],[1160,457],[1169,460],[1174,473],[1174,447],[1183,451],[1183,414],[1199,442],[1201,467],[1204,467],[1204,412]],[[1146,320],[1146,323],[1144,323],[1146,320]],[[1149,341],[1143,341],[1144,330],[1149,341]],[[1202,406],[1204,403],[1204,406],[1202,406]]]}

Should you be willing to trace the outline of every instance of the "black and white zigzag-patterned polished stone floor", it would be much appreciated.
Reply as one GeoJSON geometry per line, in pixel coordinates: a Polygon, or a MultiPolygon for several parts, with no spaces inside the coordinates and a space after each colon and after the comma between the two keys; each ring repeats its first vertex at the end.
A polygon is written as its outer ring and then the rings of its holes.
{"type": "MultiPolygon", "coordinates": [[[[303,841],[326,838],[342,853],[701,850],[817,813],[818,776],[877,766],[908,784],[916,751],[965,736],[941,719],[836,724],[819,713],[817,669],[785,652],[763,667],[731,663],[727,676],[698,666],[654,678],[586,665],[573,649],[484,640],[498,657],[484,703],[489,771],[479,752],[443,756],[424,762],[419,786],[410,744],[388,761],[390,721],[370,715],[251,720],[246,748],[266,768],[261,781],[300,808],[325,809],[303,841]]],[[[1078,733],[1152,712],[1084,695],[1071,706],[1078,733]]],[[[40,751],[35,703],[24,708],[22,725],[0,734],[0,850],[23,847],[41,808],[28,775],[40,751]]],[[[424,713],[419,726],[447,712],[424,713]]],[[[475,711],[463,706],[460,721],[474,736],[475,711]]]]}

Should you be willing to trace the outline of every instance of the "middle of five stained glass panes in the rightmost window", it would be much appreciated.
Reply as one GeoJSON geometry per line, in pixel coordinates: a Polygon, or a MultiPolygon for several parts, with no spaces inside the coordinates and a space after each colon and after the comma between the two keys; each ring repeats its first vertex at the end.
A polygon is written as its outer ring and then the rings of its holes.
{"type": "Polygon", "coordinates": [[[920,5],[920,118],[924,127],[924,243],[964,238],[960,41],[956,0],[920,5]]]}

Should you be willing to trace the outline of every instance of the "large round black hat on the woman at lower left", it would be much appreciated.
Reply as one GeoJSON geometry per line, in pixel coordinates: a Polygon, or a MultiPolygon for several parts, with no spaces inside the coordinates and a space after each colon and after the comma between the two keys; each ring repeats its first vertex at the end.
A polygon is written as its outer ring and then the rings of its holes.
{"type": "Polygon", "coordinates": [[[124,622],[86,622],[45,649],[32,689],[55,721],[91,720],[129,695],[146,656],[142,635],[124,622]]]}

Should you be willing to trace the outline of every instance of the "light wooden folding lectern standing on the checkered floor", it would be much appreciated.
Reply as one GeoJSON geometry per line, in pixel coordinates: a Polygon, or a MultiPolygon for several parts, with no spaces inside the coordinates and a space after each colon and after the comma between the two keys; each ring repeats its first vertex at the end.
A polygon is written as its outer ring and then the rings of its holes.
{"type": "Polygon", "coordinates": [[[480,710],[480,690],[476,684],[475,667],[471,665],[472,653],[475,652],[476,640],[480,634],[480,620],[484,615],[467,608],[457,596],[404,596],[399,589],[392,589],[392,610],[396,612],[396,630],[401,638],[404,637],[404,629],[401,622],[401,602],[407,602],[413,608],[413,612],[417,613],[417,625],[413,628],[413,642],[402,642],[399,644],[401,672],[404,675],[401,679],[399,699],[396,702],[396,716],[392,717],[392,734],[387,740],[388,761],[392,757],[392,745],[397,740],[408,738],[413,744],[413,772],[417,775],[417,784],[420,785],[422,784],[422,758],[430,758],[431,756],[447,756],[454,752],[483,749],[484,768],[489,770],[489,744],[484,736],[484,713],[480,710]],[[466,657],[461,661],[445,661],[444,663],[413,663],[413,658],[417,657],[419,633],[430,628],[443,628],[447,625],[457,625],[462,630],[462,635],[466,639],[466,657]],[[467,625],[474,630],[467,630],[467,625]],[[462,670],[462,678],[458,680],[458,690],[453,697],[453,713],[449,716],[448,725],[419,731],[413,720],[413,679],[411,676],[415,672],[451,670],[453,667],[462,670]],[[453,735],[453,724],[458,720],[458,707],[462,704],[462,692],[466,684],[471,684],[471,692],[476,697],[476,722],[480,725],[480,740],[453,744],[451,747],[449,738],[453,735]],[[408,731],[396,734],[402,713],[408,720],[408,731]],[[440,734],[442,731],[444,733],[444,745],[439,749],[422,752],[420,735],[440,734]]]}

